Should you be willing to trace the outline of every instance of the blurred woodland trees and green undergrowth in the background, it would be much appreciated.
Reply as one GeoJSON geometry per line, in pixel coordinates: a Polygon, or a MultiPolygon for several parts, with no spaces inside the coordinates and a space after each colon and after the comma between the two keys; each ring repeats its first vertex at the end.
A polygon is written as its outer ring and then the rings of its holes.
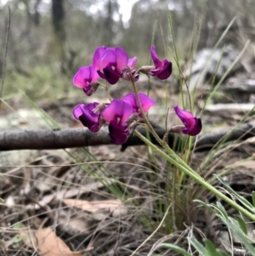
{"type": "Polygon", "coordinates": [[[236,22],[222,45],[232,43],[242,48],[250,39],[254,46],[254,3],[255,0],[139,0],[133,4],[130,20],[124,23],[120,12],[123,1],[9,0],[0,4],[0,72],[8,6],[11,10],[3,95],[21,88],[33,100],[57,99],[71,90],[72,76],[80,66],[91,63],[99,45],[122,46],[130,58],[138,56],[138,66],[148,65],[154,26],[157,53],[174,62],[167,8],[173,19],[179,63],[190,58],[194,27],[196,49],[210,48],[235,16],[236,22]]]}

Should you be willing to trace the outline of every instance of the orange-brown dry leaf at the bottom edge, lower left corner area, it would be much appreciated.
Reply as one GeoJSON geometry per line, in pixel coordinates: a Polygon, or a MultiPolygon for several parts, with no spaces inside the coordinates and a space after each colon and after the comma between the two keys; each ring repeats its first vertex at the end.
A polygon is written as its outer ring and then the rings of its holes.
{"type": "Polygon", "coordinates": [[[51,228],[37,230],[37,247],[43,256],[82,256],[82,252],[71,252],[51,228]]]}

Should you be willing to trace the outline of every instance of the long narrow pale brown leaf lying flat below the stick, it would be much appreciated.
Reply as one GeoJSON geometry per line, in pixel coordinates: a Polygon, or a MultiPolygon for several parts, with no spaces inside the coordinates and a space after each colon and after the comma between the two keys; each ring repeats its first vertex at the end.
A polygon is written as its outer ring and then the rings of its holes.
{"type": "Polygon", "coordinates": [[[70,207],[80,208],[83,211],[90,213],[96,213],[99,209],[105,208],[109,209],[111,212],[122,205],[120,200],[104,200],[104,201],[86,201],[78,199],[65,199],[63,200],[65,204],[70,207]]]}

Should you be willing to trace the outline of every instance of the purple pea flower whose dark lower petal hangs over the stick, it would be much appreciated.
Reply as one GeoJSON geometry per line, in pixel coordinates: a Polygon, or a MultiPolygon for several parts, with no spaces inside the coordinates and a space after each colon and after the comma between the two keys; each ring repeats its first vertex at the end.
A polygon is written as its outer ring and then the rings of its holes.
{"type": "Polygon", "coordinates": [[[123,100],[112,100],[104,111],[102,118],[109,123],[109,135],[116,144],[123,144],[130,134],[127,121],[133,114],[133,107],[123,100]]]}

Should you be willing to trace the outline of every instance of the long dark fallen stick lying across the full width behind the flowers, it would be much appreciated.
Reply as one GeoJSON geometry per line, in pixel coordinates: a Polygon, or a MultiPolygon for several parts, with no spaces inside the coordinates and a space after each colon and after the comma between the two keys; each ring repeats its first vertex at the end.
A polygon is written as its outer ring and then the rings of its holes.
{"type": "MultiPolygon", "coordinates": [[[[138,128],[139,132],[147,136],[145,128],[138,128]]],[[[197,140],[195,151],[208,151],[223,139],[233,128],[226,128],[222,131],[206,134],[197,140]]],[[[162,139],[165,130],[155,128],[156,134],[162,139]]],[[[150,133],[149,133],[150,134],[150,133]]],[[[248,139],[255,135],[255,121],[246,122],[235,128],[225,142],[236,139],[248,139]]],[[[178,150],[182,150],[183,139],[177,134],[168,134],[168,145],[173,148],[177,145],[178,150]]],[[[150,140],[158,144],[156,139],[150,134],[150,140]]],[[[98,133],[91,133],[87,128],[65,128],[56,130],[6,130],[0,132],[0,151],[14,150],[57,150],[65,148],[82,147],[89,145],[113,145],[108,134],[108,128],[101,128],[98,133]]],[[[127,142],[122,145],[121,151],[125,151],[128,146],[144,145],[144,142],[135,135],[130,135],[127,142]]]]}

